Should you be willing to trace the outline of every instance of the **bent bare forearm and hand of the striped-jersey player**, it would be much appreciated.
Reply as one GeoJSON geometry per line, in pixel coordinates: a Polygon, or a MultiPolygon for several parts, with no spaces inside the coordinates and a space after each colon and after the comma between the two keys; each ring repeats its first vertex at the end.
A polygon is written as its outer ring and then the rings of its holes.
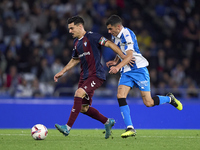
{"type": "Polygon", "coordinates": [[[127,50],[126,57],[117,65],[110,68],[109,73],[116,74],[123,66],[127,65],[133,58],[133,51],[127,50]]]}

